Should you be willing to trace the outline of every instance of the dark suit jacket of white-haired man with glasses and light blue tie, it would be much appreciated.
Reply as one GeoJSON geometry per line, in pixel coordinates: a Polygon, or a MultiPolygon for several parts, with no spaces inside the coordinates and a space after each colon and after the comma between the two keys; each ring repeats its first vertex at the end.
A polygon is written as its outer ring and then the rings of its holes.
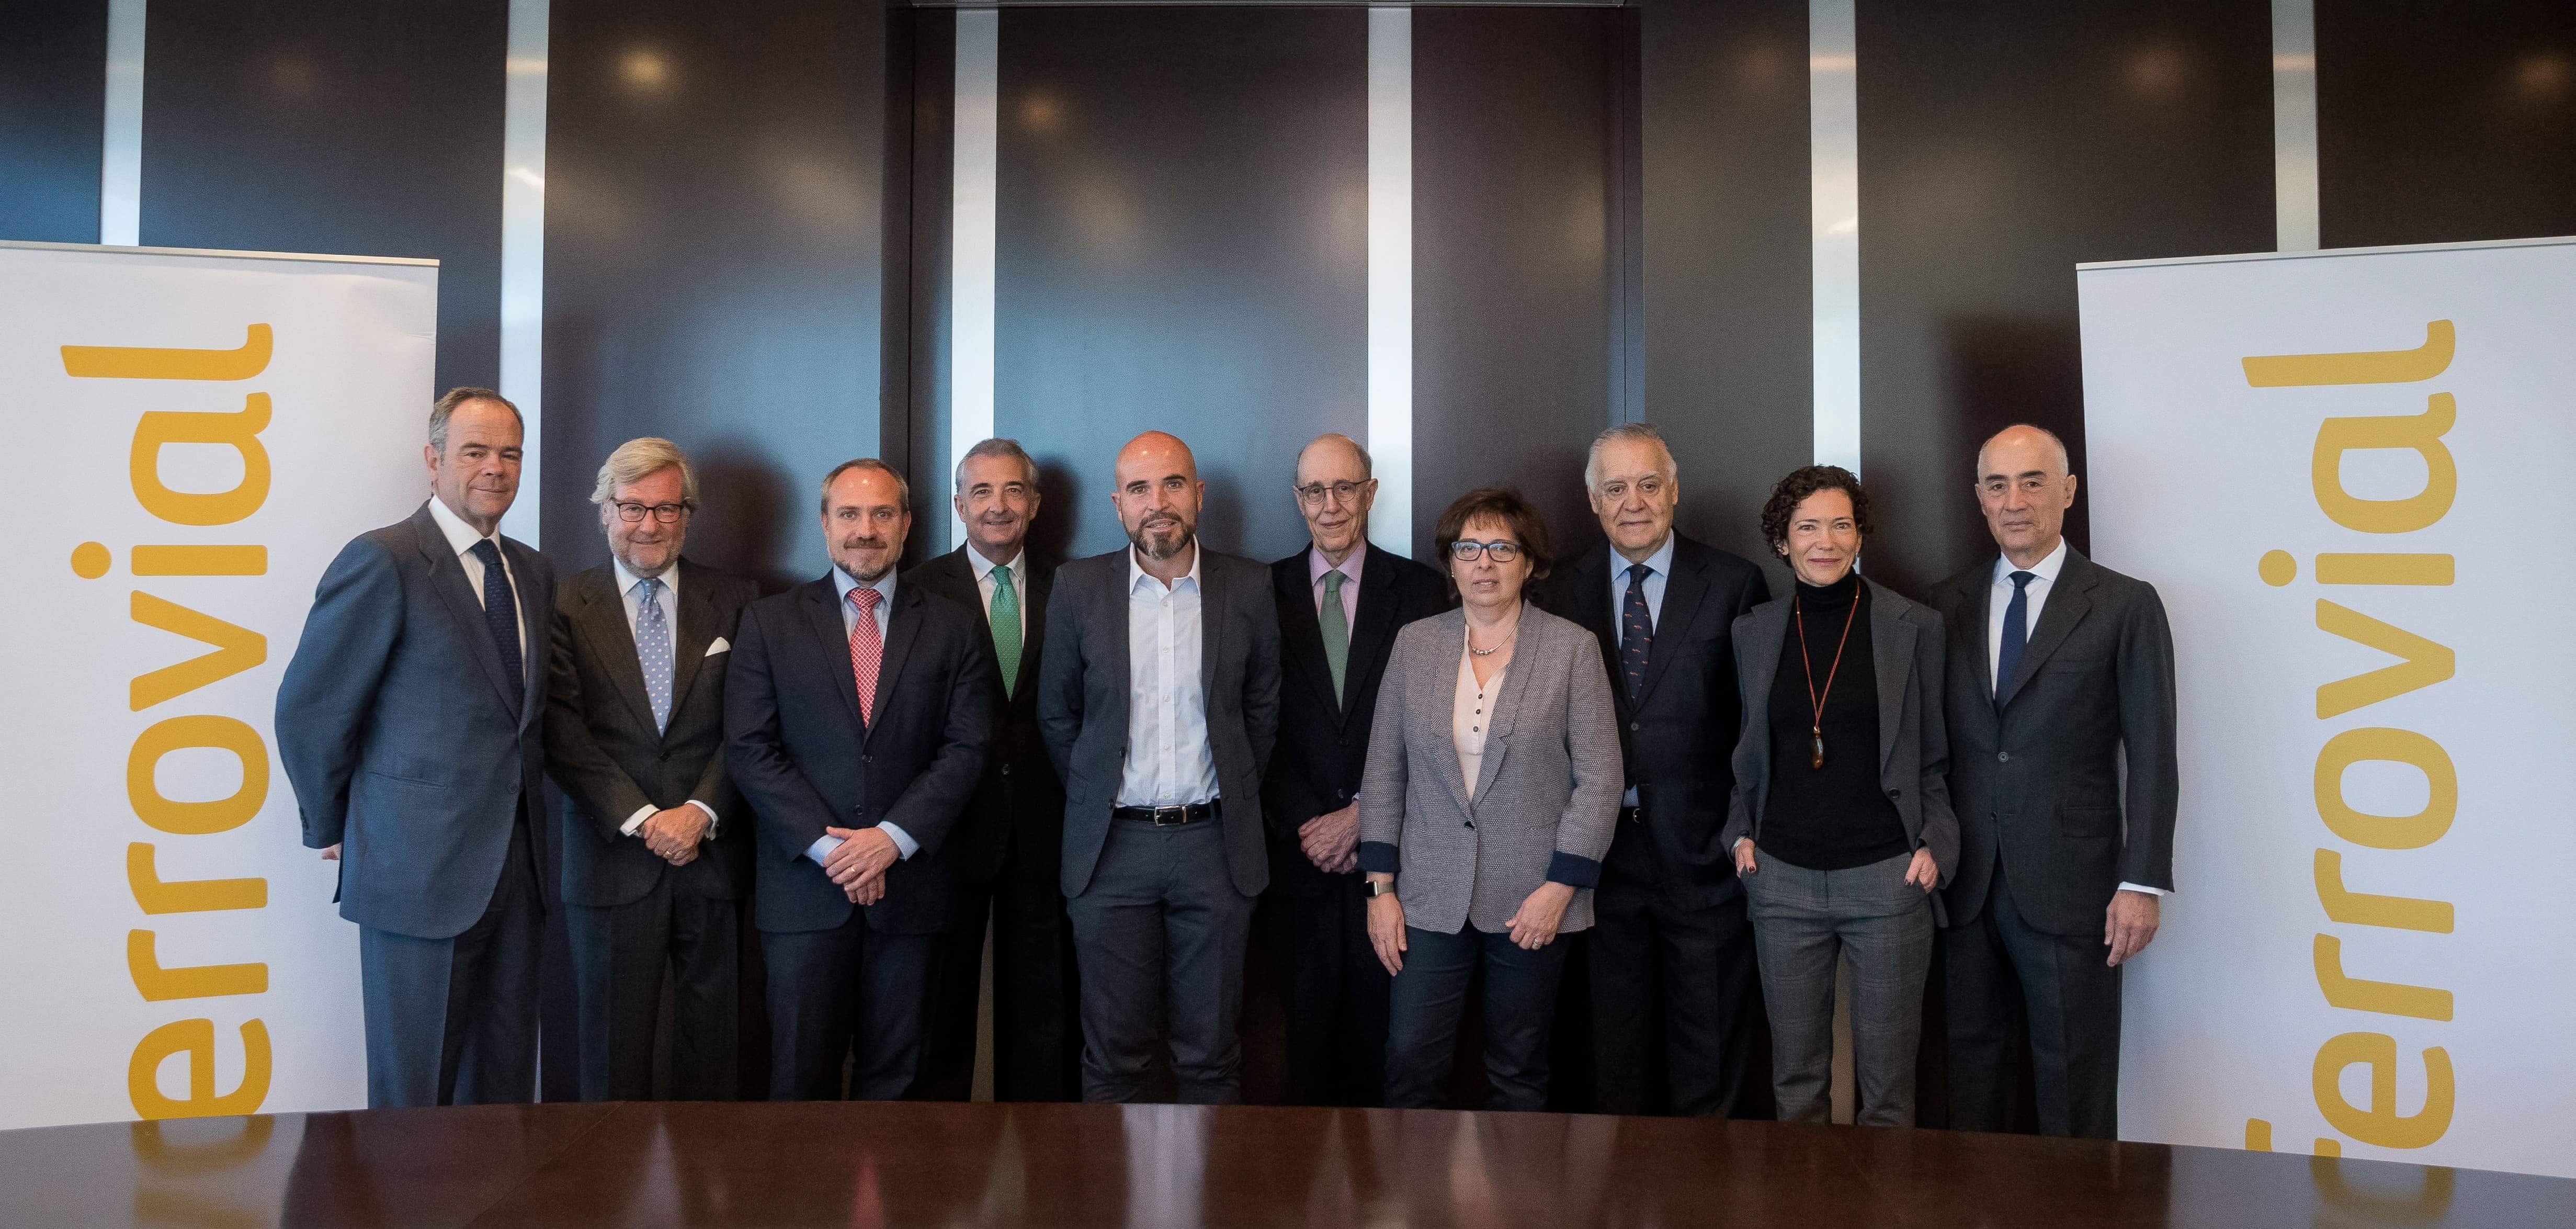
{"type": "Polygon", "coordinates": [[[654,729],[644,665],[626,626],[616,567],[564,582],[554,608],[546,696],[546,770],[564,791],[564,902],[629,904],[665,873],[683,897],[747,894],[752,812],[724,776],[724,665],[742,608],[760,600],[750,577],[680,559],[680,626],[672,629],[670,724],[654,729]],[[708,654],[716,642],[724,649],[708,654]],[[621,832],[639,806],[698,799],[716,832],[698,861],[670,866],[621,832]]]}

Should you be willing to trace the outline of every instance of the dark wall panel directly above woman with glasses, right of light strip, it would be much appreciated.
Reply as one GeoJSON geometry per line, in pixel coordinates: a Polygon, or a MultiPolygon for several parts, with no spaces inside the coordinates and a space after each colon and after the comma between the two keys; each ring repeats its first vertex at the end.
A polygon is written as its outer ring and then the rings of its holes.
{"type": "Polygon", "coordinates": [[[1486,484],[1522,487],[1558,551],[1600,538],[1582,472],[1620,343],[1618,57],[1613,10],[1414,10],[1417,559],[1486,484]]]}

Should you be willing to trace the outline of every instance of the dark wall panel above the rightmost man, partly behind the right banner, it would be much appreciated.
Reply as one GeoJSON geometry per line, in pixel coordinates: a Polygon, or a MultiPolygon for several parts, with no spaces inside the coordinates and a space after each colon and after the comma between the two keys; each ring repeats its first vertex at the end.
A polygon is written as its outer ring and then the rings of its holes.
{"type": "MultiPolygon", "coordinates": [[[[2272,242],[2267,5],[1862,3],[1870,575],[1922,593],[1994,549],[1968,474],[2004,425],[2084,469],[2076,263],[2272,242]]],[[[2087,546],[2081,500],[2069,536],[2087,546]]]]}

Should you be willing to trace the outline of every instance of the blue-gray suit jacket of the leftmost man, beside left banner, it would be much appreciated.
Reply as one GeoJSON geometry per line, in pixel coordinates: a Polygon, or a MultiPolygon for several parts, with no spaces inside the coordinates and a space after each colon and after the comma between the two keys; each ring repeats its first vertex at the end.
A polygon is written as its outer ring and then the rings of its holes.
{"type": "MultiPolygon", "coordinates": [[[[278,763],[304,845],[340,850],[340,917],[461,935],[492,902],[520,806],[544,832],[546,621],[554,567],[502,538],[523,626],[502,670],[482,598],[422,502],[322,572],[278,680],[278,763]]],[[[544,858],[544,850],[531,850],[544,858]]]]}

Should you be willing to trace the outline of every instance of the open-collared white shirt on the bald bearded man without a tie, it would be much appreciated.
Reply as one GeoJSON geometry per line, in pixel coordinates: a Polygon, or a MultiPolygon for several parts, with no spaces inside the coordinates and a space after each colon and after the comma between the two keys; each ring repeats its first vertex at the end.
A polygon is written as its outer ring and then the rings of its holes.
{"type": "Polygon", "coordinates": [[[1136,564],[1128,546],[1128,755],[1118,806],[1188,806],[1216,799],[1216,752],[1208,750],[1208,693],[1198,680],[1198,567],[1172,585],[1136,564]]]}

